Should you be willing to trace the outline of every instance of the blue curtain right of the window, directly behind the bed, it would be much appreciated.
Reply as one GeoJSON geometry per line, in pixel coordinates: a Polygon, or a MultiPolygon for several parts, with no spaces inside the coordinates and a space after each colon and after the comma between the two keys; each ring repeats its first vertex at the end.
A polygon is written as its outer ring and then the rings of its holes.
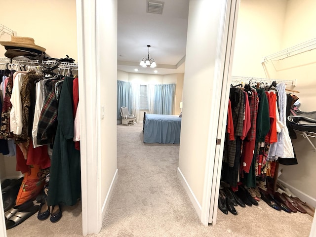
{"type": "Polygon", "coordinates": [[[171,115],[176,84],[155,85],[154,114],[171,115]]]}

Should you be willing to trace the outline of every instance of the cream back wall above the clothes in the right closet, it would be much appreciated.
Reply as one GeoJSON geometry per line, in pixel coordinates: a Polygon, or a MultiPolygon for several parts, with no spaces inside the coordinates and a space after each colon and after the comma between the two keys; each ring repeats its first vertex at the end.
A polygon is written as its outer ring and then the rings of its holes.
{"type": "Polygon", "coordinates": [[[263,58],[281,47],[287,0],[240,0],[233,76],[265,78],[263,58]]]}

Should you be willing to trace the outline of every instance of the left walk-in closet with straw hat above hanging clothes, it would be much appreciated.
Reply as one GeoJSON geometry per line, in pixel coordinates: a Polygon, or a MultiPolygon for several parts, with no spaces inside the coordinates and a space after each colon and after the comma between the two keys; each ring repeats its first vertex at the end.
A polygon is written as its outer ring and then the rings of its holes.
{"type": "Polygon", "coordinates": [[[14,6],[15,16],[3,12],[0,22],[4,230],[8,237],[81,235],[76,1],[14,6]],[[64,17],[21,20],[26,12],[64,17]]]}

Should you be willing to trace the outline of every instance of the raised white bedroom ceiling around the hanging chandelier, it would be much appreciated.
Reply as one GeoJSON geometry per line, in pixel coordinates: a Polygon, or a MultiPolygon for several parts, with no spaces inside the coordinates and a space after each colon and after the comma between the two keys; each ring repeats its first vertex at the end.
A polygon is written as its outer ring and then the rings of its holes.
{"type": "MultiPolygon", "coordinates": [[[[156,1],[151,1],[155,4],[156,1]]],[[[184,73],[189,0],[164,0],[162,14],[147,13],[148,0],[118,0],[118,70],[159,75],[184,73]],[[142,68],[150,58],[156,68],[142,68]]]]}

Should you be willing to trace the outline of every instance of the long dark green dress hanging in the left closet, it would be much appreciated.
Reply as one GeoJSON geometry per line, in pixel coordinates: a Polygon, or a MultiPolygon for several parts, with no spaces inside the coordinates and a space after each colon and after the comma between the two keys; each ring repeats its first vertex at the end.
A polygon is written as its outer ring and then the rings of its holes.
{"type": "Polygon", "coordinates": [[[73,78],[65,77],[59,97],[58,126],[51,158],[48,205],[74,205],[81,196],[80,151],[75,149],[73,78]]]}

